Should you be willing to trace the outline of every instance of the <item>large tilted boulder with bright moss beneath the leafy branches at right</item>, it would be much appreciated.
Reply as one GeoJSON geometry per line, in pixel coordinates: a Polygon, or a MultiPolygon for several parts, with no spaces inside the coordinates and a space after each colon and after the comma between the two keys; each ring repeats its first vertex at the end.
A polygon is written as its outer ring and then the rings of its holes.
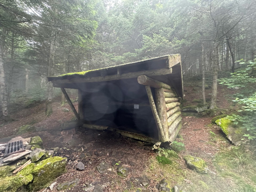
{"type": "Polygon", "coordinates": [[[246,129],[241,128],[242,125],[234,125],[228,117],[217,119],[215,123],[234,145],[241,145],[241,139],[244,138],[243,135],[246,133],[246,129]]]}

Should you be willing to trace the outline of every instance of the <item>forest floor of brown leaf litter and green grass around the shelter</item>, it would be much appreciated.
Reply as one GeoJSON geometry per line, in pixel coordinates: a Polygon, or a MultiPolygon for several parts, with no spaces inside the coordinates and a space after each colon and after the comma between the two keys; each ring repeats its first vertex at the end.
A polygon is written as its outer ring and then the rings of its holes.
{"type": "MultiPolygon", "coordinates": [[[[197,105],[193,99],[201,98],[199,83],[184,81],[184,105],[197,105]]],[[[231,103],[231,94],[224,86],[218,87],[217,105],[222,111],[234,110],[231,103]]],[[[210,98],[210,90],[206,90],[206,98],[210,98]]],[[[168,186],[180,185],[184,191],[256,191],[256,164],[254,155],[246,146],[233,146],[219,130],[218,126],[211,124],[213,117],[185,116],[182,118],[182,129],[176,141],[185,145],[185,150],[178,153],[177,157],[170,157],[170,165],[158,163],[157,152],[152,151],[152,144],[140,142],[131,138],[107,131],[89,130],[78,128],[71,138],[63,138],[60,131],[61,123],[71,120],[72,111],[68,104],[60,105],[60,98],[53,103],[53,114],[45,117],[44,103],[22,109],[12,114],[15,121],[0,128],[0,143],[6,143],[10,138],[16,137],[18,127],[33,124],[37,132],[28,132],[20,135],[23,138],[39,135],[45,149],[60,147],[56,155],[67,158],[67,172],[57,178],[57,183],[63,183],[74,178],[79,178],[78,185],[63,191],[86,191],[91,184],[99,186],[94,191],[157,191],[155,186],[166,179],[168,186]],[[58,100],[58,101],[57,101],[58,100]],[[66,142],[68,141],[68,142],[66,142]],[[184,155],[193,155],[204,159],[209,168],[209,173],[198,174],[186,167],[184,155]],[[97,166],[102,161],[110,169],[100,174],[97,166]],[[82,162],[84,171],[76,170],[76,164],[82,162]],[[129,174],[123,178],[117,174],[119,166],[129,168],[129,174]],[[149,185],[129,187],[133,177],[146,176],[149,185]],[[129,189],[130,188],[130,189],[129,189]]],[[[77,108],[77,102],[74,103],[77,108]]],[[[218,115],[218,114],[214,114],[218,115]]],[[[1,122],[0,122],[1,124],[1,122]]],[[[41,189],[40,192],[49,189],[41,189]]],[[[57,191],[57,189],[53,190],[57,191]]]]}

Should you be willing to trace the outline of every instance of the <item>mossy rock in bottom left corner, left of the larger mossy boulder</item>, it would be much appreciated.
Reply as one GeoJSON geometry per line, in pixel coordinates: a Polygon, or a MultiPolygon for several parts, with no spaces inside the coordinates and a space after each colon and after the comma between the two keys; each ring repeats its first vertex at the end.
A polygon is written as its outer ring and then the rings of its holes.
{"type": "MultiPolygon", "coordinates": [[[[23,185],[27,185],[33,180],[33,171],[35,164],[31,163],[19,171],[15,176],[4,177],[0,179],[0,192],[16,192],[23,185]]],[[[19,190],[18,190],[19,191],[19,190]]]]}

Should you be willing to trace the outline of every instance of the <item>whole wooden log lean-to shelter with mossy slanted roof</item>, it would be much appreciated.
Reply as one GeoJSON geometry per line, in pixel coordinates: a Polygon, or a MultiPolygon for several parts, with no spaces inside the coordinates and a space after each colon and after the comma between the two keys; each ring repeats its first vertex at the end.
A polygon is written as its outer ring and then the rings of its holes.
{"type": "Polygon", "coordinates": [[[82,127],[151,143],[172,142],[181,129],[180,54],[48,77],[48,81],[61,88],[82,127]],[[65,88],[78,89],[78,112],[65,88]]]}

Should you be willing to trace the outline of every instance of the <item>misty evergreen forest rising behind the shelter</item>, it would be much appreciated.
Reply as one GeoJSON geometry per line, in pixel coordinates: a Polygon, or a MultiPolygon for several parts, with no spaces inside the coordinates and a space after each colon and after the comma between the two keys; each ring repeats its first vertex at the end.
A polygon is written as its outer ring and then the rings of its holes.
{"type": "Polygon", "coordinates": [[[50,114],[61,91],[47,76],[176,53],[202,93],[211,80],[214,109],[218,73],[256,55],[255,8],[255,0],[0,0],[0,117],[38,101],[50,114]]]}

